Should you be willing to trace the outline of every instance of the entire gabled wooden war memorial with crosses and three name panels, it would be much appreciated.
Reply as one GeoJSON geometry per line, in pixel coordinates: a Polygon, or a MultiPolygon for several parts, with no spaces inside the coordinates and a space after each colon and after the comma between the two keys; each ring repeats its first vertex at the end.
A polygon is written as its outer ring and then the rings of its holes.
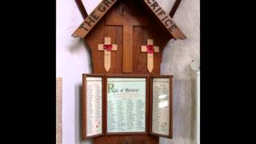
{"type": "Polygon", "coordinates": [[[185,39],[154,0],[103,0],[74,30],[90,50],[82,74],[82,137],[94,144],[157,144],[172,138],[172,75],[160,75],[166,43],[185,39]]]}

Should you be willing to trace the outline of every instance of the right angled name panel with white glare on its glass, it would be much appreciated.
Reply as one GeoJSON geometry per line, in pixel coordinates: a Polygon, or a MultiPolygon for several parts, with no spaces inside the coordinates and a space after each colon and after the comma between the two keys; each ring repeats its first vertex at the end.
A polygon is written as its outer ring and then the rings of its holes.
{"type": "Polygon", "coordinates": [[[150,134],[172,138],[172,76],[150,78],[150,134]]]}

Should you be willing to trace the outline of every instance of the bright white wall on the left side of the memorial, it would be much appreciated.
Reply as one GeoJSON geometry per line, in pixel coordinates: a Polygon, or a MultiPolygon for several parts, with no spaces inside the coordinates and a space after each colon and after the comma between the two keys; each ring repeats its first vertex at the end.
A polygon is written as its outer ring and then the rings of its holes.
{"type": "MultiPolygon", "coordinates": [[[[90,13],[99,0],[86,0],[90,13]]],[[[62,141],[63,144],[88,143],[80,135],[80,89],[82,74],[90,73],[90,57],[79,38],[71,37],[83,21],[75,0],[57,0],[57,77],[63,78],[62,86],[62,141]]]]}

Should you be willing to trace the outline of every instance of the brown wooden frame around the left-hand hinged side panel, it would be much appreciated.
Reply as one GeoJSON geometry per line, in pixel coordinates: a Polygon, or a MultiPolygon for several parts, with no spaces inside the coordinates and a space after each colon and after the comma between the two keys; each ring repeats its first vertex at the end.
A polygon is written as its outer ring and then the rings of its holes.
{"type": "Polygon", "coordinates": [[[104,107],[105,107],[105,96],[104,96],[104,91],[105,91],[105,78],[103,74],[82,74],[82,138],[87,139],[87,138],[94,138],[98,137],[104,134],[104,124],[105,124],[105,113],[104,113],[104,107]],[[86,78],[88,77],[101,77],[102,78],[102,134],[96,134],[90,137],[87,137],[86,134],[86,86],[87,86],[87,81],[86,78]]]}

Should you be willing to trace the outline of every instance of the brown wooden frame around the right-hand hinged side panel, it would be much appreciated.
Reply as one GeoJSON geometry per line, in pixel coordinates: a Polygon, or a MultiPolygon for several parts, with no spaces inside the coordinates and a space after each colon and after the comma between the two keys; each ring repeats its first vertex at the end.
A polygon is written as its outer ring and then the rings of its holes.
{"type": "Polygon", "coordinates": [[[150,76],[150,119],[149,119],[149,133],[164,138],[173,138],[173,76],[161,75],[150,76]],[[169,135],[155,134],[152,132],[152,118],[153,118],[153,78],[169,78],[170,79],[170,115],[169,115],[169,135]]]}

